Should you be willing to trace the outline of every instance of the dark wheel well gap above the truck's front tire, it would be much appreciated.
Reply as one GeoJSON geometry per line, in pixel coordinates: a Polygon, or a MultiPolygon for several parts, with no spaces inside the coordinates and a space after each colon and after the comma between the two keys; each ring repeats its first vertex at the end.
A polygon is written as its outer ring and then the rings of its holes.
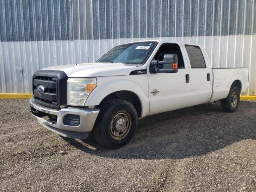
{"type": "Polygon", "coordinates": [[[140,99],[138,98],[138,96],[131,91],[117,91],[117,92],[113,92],[111,94],[109,94],[108,96],[106,96],[101,102],[100,104],[102,104],[103,102],[105,102],[106,100],[109,99],[122,99],[122,100],[126,100],[128,102],[130,102],[134,108],[137,111],[138,117],[141,116],[141,112],[142,112],[142,106],[140,103],[140,99]]]}

